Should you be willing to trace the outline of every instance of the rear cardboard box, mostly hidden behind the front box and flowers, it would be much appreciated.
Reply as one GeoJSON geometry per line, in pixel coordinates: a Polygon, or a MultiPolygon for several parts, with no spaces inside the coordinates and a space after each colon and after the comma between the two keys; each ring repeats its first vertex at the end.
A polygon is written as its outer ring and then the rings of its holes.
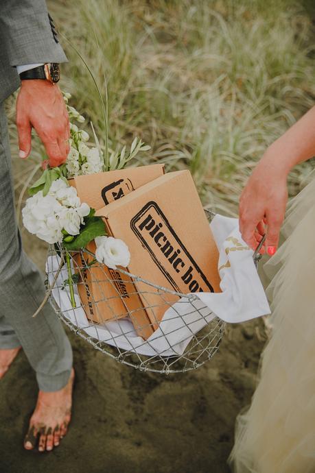
{"type": "MultiPolygon", "coordinates": [[[[164,165],[150,165],[81,175],[69,182],[77,189],[81,202],[97,209],[103,207],[104,203],[124,197],[163,173],[164,165]]],[[[94,241],[89,243],[87,250],[95,253],[94,241]]],[[[86,252],[74,256],[75,272],[81,276],[78,292],[86,317],[102,323],[129,315],[139,335],[150,337],[153,332],[150,319],[143,310],[130,278],[104,265],[101,267],[98,263],[87,268],[86,264],[92,259],[86,252]]]]}

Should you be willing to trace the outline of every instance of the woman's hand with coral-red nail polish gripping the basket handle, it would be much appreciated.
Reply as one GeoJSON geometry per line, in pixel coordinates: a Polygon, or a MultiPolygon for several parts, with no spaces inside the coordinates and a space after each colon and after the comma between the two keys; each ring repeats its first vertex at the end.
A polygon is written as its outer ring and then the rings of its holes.
{"type": "Polygon", "coordinates": [[[260,253],[275,254],[288,202],[288,171],[278,156],[267,150],[255,167],[240,197],[240,232],[248,246],[256,250],[266,232],[260,253]],[[267,226],[267,228],[266,228],[267,226]]]}

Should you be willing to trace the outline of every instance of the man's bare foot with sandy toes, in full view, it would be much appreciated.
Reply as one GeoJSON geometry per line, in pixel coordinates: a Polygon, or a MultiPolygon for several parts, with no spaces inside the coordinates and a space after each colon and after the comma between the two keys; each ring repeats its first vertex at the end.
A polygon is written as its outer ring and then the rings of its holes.
{"type": "Polygon", "coordinates": [[[74,369],[65,387],[60,391],[45,393],[39,391],[35,411],[24,440],[24,448],[33,450],[52,450],[65,437],[71,419],[72,388],[74,369]],[[39,440],[38,440],[39,437],[39,440]]]}

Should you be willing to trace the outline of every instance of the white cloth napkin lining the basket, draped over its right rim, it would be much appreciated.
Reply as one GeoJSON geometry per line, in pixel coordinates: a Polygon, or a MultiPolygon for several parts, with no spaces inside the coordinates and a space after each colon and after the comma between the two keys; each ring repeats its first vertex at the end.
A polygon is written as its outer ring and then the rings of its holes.
{"type": "MultiPolygon", "coordinates": [[[[84,330],[86,335],[113,345],[121,352],[128,350],[148,356],[183,354],[194,334],[215,316],[224,322],[234,323],[269,314],[268,300],[253,262],[253,250],[242,241],[238,219],[217,214],[210,226],[220,252],[218,267],[222,293],[197,293],[194,298],[189,299],[189,295],[181,298],[167,309],[158,330],[146,341],[137,335],[128,317],[106,324],[89,322],[76,288],[77,307],[72,308],[69,287],[60,289],[68,277],[65,268],[58,276],[52,298],[69,322],[84,330]]],[[[58,256],[47,259],[49,284],[54,280],[59,263],[58,256]]]]}

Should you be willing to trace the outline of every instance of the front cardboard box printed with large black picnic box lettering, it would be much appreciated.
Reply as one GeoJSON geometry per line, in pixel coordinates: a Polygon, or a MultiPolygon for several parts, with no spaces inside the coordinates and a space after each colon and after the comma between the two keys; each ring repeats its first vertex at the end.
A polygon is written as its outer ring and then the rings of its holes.
{"type": "MultiPolygon", "coordinates": [[[[163,175],[97,215],[128,245],[130,273],[180,293],[220,292],[218,249],[189,171],[163,175]]],[[[178,296],[143,282],[135,287],[155,330],[178,296]]]]}

